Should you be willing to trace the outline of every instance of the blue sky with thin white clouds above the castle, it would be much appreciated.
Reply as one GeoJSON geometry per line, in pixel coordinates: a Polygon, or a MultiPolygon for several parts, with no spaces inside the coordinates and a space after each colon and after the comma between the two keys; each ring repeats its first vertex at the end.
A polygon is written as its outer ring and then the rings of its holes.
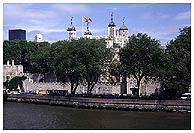
{"type": "Polygon", "coordinates": [[[36,34],[49,42],[67,39],[71,16],[77,37],[82,35],[82,16],[92,19],[93,36],[104,36],[111,11],[117,28],[125,17],[129,35],[146,33],[162,45],[174,39],[179,28],[191,25],[189,3],[3,3],[3,40],[8,39],[9,29],[25,29],[28,41],[36,34]]]}

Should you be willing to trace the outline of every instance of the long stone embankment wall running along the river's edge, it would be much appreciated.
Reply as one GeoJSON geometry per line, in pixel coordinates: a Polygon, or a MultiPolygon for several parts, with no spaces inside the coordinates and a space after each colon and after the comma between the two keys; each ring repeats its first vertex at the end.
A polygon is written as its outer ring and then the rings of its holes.
{"type": "Polygon", "coordinates": [[[190,100],[115,99],[12,94],[8,96],[7,101],[87,109],[191,112],[190,100]]]}

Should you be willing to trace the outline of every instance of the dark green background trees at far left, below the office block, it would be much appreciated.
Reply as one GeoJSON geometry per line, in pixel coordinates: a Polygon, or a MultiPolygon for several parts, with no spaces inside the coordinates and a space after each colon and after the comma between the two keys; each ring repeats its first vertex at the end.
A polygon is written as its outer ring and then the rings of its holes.
{"type": "Polygon", "coordinates": [[[50,44],[12,40],[3,42],[3,63],[14,60],[24,66],[24,72],[45,74],[51,70],[50,44]]]}

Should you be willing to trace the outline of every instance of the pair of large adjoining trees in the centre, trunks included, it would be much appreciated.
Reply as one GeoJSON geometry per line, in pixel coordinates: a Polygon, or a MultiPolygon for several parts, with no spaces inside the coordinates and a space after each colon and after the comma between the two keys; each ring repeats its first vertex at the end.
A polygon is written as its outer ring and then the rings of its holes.
{"type": "Polygon", "coordinates": [[[74,94],[79,84],[87,86],[90,94],[101,75],[106,75],[108,61],[112,58],[111,50],[103,40],[58,41],[52,44],[54,71],[62,82],[71,83],[74,94]]]}

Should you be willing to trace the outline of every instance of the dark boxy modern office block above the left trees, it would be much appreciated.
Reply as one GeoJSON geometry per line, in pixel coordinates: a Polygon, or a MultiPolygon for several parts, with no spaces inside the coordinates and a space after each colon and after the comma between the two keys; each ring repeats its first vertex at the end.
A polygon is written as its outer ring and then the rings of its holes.
{"type": "Polygon", "coordinates": [[[9,40],[26,40],[26,31],[22,29],[9,30],[9,40]]]}

